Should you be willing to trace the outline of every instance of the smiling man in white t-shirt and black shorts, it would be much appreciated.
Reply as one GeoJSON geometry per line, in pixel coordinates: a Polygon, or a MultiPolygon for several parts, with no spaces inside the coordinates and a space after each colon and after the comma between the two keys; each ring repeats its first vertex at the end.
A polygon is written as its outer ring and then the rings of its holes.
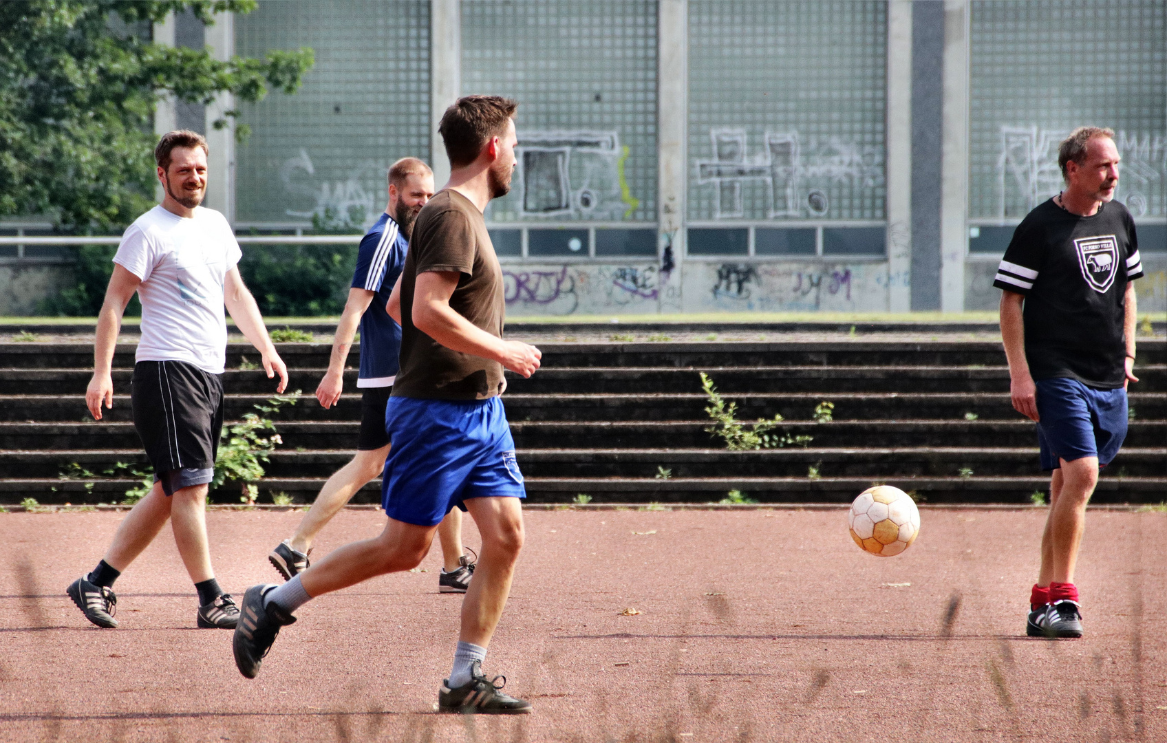
{"type": "Polygon", "coordinates": [[[239,618],[235,601],[215,580],[204,516],[223,428],[223,307],[263,355],[267,377],[279,374],[277,392],[287,386],[287,369],[239,276],[239,244],[231,225],[219,212],[200,206],[207,194],[207,140],[196,132],[169,132],[159,141],[154,160],[165,197],[123,234],[97,323],[85,404],[100,420],[102,404],[113,407],[110,367],[121,314],[138,292],[141,341],[131,401],[155,479],[118,526],[105,558],[67,591],[85,618],[103,628],[118,626],[113,581],[167,519],[198,591],[198,626],[233,629],[239,618]]]}

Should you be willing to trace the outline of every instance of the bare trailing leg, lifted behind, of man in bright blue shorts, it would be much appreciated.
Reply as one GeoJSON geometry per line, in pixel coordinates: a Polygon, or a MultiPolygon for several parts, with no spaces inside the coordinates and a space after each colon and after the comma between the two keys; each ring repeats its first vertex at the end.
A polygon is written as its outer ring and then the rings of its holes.
{"type": "Polygon", "coordinates": [[[372,539],[337,547],[300,574],[300,583],[315,598],[385,573],[415,568],[429,552],[436,526],[415,526],[389,519],[372,539]]]}

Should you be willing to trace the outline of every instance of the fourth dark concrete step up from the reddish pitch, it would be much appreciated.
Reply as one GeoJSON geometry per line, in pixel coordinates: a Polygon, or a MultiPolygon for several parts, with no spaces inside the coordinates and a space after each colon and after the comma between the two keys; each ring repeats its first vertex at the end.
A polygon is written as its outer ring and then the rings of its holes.
{"type": "MultiPolygon", "coordinates": [[[[271,395],[228,394],[226,415],[242,418],[265,405],[271,395]]],[[[728,402],[738,405],[742,419],[773,418],[776,413],[787,420],[808,420],[822,401],[834,405],[836,420],[886,420],[897,415],[914,419],[963,420],[972,414],[984,420],[1015,420],[1009,397],[997,392],[972,393],[727,393],[728,402]]],[[[1135,416],[1152,420],[1167,419],[1167,393],[1131,393],[1130,406],[1135,416]]],[[[512,421],[551,420],[694,420],[705,415],[708,399],[704,393],[643,393],[643,394],[525,394],[503,395],[506,415],[512,421]]],[[[89,418],[82,395],[0,394],[0,420],[7,421],[81,421],[89,418]]],[[[132,420],[130,395],[114,395],[113,408],[103,418],[110,421],[132,420]]],[[[295,405],[281,407],[270,416],[273,420],[299,421],[356,421],[361,419],[361,394],[341,395],[340,401],[324,409],[313,395],[302,395],[295,405]]]]}

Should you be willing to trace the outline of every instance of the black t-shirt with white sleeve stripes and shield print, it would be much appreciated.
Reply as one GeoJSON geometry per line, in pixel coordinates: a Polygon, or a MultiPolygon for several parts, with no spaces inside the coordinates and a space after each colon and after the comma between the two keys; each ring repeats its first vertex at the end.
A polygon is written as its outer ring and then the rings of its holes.
{"type": "Polygon", "coordinates": [[[1121,387],[1127,281],[1142,275],[1131,212],[1106,202],[1091,217],[1049,199],[1018,225],[993,286],[1025,296],[1025,355],[1034,379],[1121,387]]]}

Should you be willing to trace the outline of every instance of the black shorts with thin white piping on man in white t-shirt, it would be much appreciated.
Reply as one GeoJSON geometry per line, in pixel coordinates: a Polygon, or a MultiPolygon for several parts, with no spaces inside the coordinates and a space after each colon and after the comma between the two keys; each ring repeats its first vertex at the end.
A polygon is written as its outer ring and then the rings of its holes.
{"type": "Polygon", "coordinates": [[[219,374],[186,362],[138,362],[130,399],[154,482],[166,495],[215,478],[223,430],[219,374]]]}

